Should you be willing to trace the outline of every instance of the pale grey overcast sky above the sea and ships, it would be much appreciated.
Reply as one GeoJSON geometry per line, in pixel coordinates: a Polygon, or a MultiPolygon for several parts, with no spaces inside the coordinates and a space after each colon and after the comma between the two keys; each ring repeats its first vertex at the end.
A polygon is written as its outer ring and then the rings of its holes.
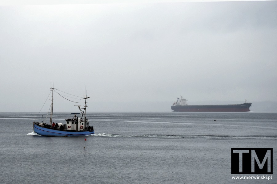
{"type": "Polygon", "coordinates": [[[50,81],[92,106],[277,101],[276,51],[277,1],[0,6],[0,112],[39,111],[50,81]]]}

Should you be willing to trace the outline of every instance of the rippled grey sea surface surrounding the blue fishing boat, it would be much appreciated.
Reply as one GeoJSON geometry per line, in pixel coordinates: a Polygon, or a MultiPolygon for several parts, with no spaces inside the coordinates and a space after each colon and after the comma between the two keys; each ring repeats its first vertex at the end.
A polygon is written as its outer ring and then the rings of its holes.
{"type": "Polygon", "coordinates": [[[86,142],[36,117],[0,113],[0,183],[277,183],[277,113],[89,113],[86,142]],[[231,148],[273,148],[272,179],[232,179],[231,148]]]}

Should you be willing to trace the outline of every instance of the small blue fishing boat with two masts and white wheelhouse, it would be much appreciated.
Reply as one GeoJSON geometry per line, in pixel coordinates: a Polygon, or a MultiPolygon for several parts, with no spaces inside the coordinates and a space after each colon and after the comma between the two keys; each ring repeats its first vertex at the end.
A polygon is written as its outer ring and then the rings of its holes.
{"type": "MultiPolygon", "coordinates": [[[[53,119],[53,92],[57,92],[55,88],[50,88],[52,91],[52,102],[51,102],[51,112],[50,112],[50,124],[42,122],[33,122],[34,132],[41,136],[48,136],[48,137],[69,137],[69,136],[87,136],[94,134],[93,126],[89,126],[89,121],[86,118],[86,108],[87,108],[87,97],[84,94],[85,102],[82,102],[84,105],[75,105],[78,106],[78,109],[81,113],[72,113],[74,117],[65,119],[63,123],[54,123],[52,122],[53,119]],[[81,117],[78,117],[77,114],[80,114],[81,117]]],[[[58,93],[58,92],[57,92],[58,93]]],[[[79,102],[76,102],[79,103],[79,102]]],[[[46,117],[47,119],[47,117],[46,117]]]]}

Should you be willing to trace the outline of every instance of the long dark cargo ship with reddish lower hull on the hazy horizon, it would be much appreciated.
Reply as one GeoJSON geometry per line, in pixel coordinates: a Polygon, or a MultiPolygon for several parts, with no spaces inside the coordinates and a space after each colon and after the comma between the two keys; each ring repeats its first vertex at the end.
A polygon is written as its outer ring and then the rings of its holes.
{"type": "Polygon", "coordinates": [[[174,112],[249,112],[252,103],[233,105],[188,105],[187,100],[181,96],[173,103],[171,109],[174,112]]]}

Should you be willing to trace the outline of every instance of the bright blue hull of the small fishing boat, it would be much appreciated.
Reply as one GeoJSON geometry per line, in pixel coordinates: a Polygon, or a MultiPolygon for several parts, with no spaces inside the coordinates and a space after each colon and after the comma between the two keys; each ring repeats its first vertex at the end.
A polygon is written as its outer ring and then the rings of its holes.
{"type": "Polygon", "coordinates": [[[54,130],[50,128],[44,128],[36,125],[33,123],[34,132],[41,136],[47,136],[47,137],[70,137],[70,136],[87,136],[94,134],[94,131],[62,131],[62,130],[54,130]]]}

